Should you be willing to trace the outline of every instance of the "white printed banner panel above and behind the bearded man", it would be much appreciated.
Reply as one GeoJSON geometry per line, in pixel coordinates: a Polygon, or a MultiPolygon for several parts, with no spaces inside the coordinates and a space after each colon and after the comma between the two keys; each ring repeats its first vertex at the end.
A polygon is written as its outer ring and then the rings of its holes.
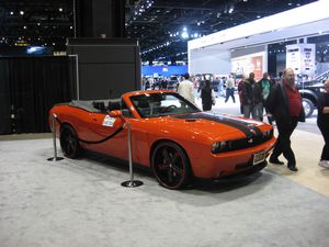
{"type": "Polygon", "coordinates": [[[286,67],[293,68],[296,75],[315,75],[316,45],[294,44],[286,46],[286,67]]]}

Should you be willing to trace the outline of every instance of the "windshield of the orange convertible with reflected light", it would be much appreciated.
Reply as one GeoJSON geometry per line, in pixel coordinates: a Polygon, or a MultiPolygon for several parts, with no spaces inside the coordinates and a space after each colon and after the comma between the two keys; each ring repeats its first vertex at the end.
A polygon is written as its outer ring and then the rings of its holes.
{"type": "Polygon", "coordinates": [[[178,93],[132,96],[131,101],[141,117],[157,117],[200,112],[200,109],[178,93]]]}

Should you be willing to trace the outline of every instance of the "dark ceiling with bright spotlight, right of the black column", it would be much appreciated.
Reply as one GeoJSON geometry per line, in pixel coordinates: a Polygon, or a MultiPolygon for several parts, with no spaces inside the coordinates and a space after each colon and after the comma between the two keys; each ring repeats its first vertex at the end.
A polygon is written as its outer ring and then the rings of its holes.
{"type": "Polygon", "coordinates": [[[168,60],[169,57],[178,60],[186,58],[186,43],[191,38],[269,16],[314,2],[314,0],[141,0],[131,2],[135,4],[127,8],[126,34],[129,37],[139,38],[143,60],[159,58],[168,60]]]}

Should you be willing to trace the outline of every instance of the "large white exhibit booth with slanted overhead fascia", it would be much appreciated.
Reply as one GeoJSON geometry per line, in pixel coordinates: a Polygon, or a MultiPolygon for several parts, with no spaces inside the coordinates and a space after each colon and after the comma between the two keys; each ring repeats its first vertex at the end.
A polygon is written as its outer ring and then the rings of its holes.
{"type": "Polygon", "coordinates": [[[269,45],[285,43],[300,48],[298,55],[294,55],[298,59],[292,59],[293,53],[287,47],[288,50],[284,50],[286,65],[274,68],[275,74],[288,66],[296,74],[314,77],[321,71],[317,71],[315,65],[316,47],[307,40],[329,34],[328,8],[329,2],[320,0],[190,41],[189,72],[248,75],[253,71],[261,78],[263,71],[269,71],[269,45]]]}

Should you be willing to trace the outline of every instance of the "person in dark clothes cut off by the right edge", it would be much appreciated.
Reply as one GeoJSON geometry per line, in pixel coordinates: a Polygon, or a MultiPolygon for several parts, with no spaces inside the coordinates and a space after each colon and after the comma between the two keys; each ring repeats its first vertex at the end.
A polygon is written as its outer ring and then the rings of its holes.
{"type": "Polygon", "coordinates": [[[318,99],[317,124],[324,136],[325,146],[322,148],[319,166],[329,168],[329,79],[325,81],[325,92],[318,99]]]}

